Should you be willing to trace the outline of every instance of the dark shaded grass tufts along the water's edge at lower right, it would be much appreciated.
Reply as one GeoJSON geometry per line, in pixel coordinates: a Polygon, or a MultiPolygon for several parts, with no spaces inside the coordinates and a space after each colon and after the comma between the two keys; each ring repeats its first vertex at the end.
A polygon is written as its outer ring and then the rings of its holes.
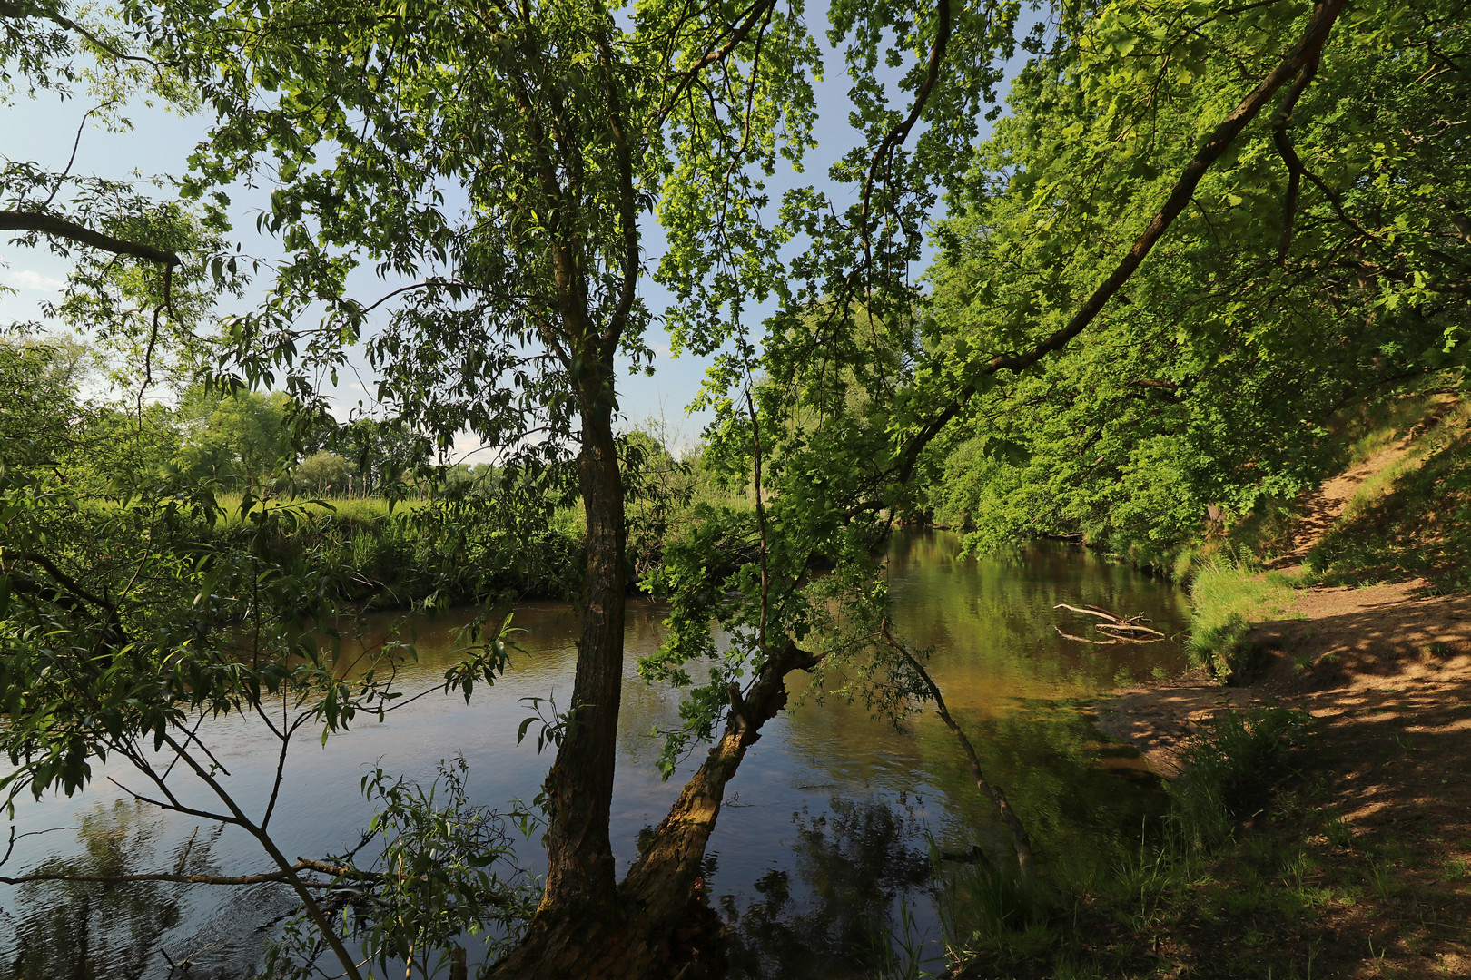
{"type": "Polygon", "coordinates": [[[1112,864],[1053,855],[1046,880],[1025,886],[986,864],[940,877],[941,923],[959,977],[1155,977],[1172,970],[1181,937],[1225,923],[1234,939],[1208,976],[1312,976],[1318,955],[1283,959],[1268,923],[1293,923],[1350,899],[1325,880],[1300,836],[1243,836],[1243,820],[1271,808],[1272,790],[1294,776],[1293,754],[1308,718],[1286,708],[1218,713],[1200,726],[1174,783],[1162,827],[1112,864]],[[1264,918],[1265,914],[1265,918],[1264,918]],[[1236,929],[1240,926],[1240,929],[1236,929]],[[1308,973],[1292,973],[1293,970],[1308,973]]]}

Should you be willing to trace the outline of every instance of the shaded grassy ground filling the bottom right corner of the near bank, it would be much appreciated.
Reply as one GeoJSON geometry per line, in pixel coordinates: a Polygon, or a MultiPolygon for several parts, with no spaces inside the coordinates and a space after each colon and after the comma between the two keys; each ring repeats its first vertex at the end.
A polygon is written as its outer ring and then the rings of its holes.
{"type": "Polygon", "coordinates": [[[1111,865],[1050,855],[1028,893],[989,882],[994,870],[947,877],[941,898],[955,889],[984,926],[958,976],[1427,976],[1471,939],[1456,911],[1471,840],[1350,826],[1339,749],[1311,724],[1286,708],[1218,713],[1189,743],[1164,826],[1111,865]]]}

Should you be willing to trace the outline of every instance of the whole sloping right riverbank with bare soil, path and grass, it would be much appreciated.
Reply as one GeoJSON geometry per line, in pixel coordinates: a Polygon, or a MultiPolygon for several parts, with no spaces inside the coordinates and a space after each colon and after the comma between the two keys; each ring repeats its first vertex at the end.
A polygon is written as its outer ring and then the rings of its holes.
{"type": "Polygon", "coordinates": [[[1171,774],[1159,837],[1086,883],[1064,870],[1039,920],[1050,945],[1002,929],[962,976],[1465,968],[1455,733],[1471,636],[1465,552],[1442,548],[1467,527],[1442,478],[1464,466],[1464,414],[1445,392],[1390,398],[1336,432],[1342,473],[1197,547],[1187,646],[1202,679],[1130,693],[1114,716],[1177,732],[1140,742],[1171,774]],[[1215,805],[1222,782],[1249,804],[1215,805]]]}

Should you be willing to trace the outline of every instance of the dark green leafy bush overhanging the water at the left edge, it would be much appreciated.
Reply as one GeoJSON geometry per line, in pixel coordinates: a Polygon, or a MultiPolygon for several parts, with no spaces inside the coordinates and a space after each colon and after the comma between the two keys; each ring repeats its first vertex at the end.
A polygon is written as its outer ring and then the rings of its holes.
{"type": "Polygon", "coordinates": [[[0,632],[12,718],[3,748],[16,767],[0,783],[9,799],[21,789],[71,795],[90,758],[129,758],[140,733],[157,749],[193,714],[240,711],[284,683],[321,698],[315,716],[328,730],[377,702],[371,686],[349,696],[332,646],[313,635],[312,620],[331,619],[321,576],[254,574],[262,541],[299,511],[259,510],[235,550],[188,535],[193,520],[218,514],[207,495],[100,513],[43,476],[6,476],[4,573],[21,599],[0,632]],[[243,621],[260,638],[246,660],[219,635],[243,621]]]}

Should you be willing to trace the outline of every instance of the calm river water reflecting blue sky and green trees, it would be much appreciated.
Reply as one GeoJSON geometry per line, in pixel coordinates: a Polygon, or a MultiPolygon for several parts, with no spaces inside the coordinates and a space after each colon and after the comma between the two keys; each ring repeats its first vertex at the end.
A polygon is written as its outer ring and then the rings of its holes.
{"type": "MultiPolygon", "coordinates": [[[[958,561],[956,550],[958,539],[940,532],[896,541],[896,629],[916,646],[934,646],[931,673],[987,774],[1028,824],[1043,865],[1116,860],[1137,846],[1162,795],[1134,752],[1109,743],[1071,705],[1115,683],[1174,670],[1183,654],[1172,642],[1124,648],[1064,641],[1053,624],[1069,632],[1080,624],[1052,607],[1093,602],[1146,613],[1174,633],[1186,617],[1183,597],[1065,545],[981,561],[958,561]]],[[[655,602],[631,604],[612,814],[624,867],[681,782],[659,779],[660,743],[649,735],[677,720],[678,696],[647,686],[634,670],[635,658],[658,646],[662,617],[655,602]]],[[[459,621],[415,624],[418,661],[403,677],[406,689],[443,677],[453,651],[447,638],[459,621]]],[[[525,652],[494,688],[477,688],[471,704],[437,693],[381,724],[359,723],[325,746],[312,736],[296,743],[272,823],[282,851],[310,857],[350,846],[372,815],[359,785],[375,764],[428,782],[440,760],[463,754],[477,802],[530,801],[550,757],[538,755],[534,739],[516,745],[528,714],[522,698],[569,693],[577,623],[555,604],[518,608],[515,623],[527,630],[525,652]]],[[[228,718],[203,735],[235,796],[263,805],[275,767],[269,733],[259,721],[228,718]]],[[[185,849],[197,871],[269,870],[244,835],[137,804],[109,776],[143,789],[121,767],[100,765],[84,795],[21,801],[16,835],[62,829],[19,837],[0,873],[172,871],[185,849]]],[[[797,705],[769,723],[746,757],[709,846],[708,892],[730,926],[733,976],[875,976],[875,943],[887,943],[886,936],[934,970],[944,936],[930,849],[974,843],[1002,855],[1008,837],[933,714],[896,729],[831,698],[797,705]]],[[[521,860],[535,873],[543,858],[527,845],[521,860]]],[[[166,977],[171,962],[191,964],[174,976],[252,976],[262,946],[291,911],[282,892],[162,883],[0,887],[0,976],[166,977]]],[[[940,901],[955,907],[953,893],[940,901]]]]}

